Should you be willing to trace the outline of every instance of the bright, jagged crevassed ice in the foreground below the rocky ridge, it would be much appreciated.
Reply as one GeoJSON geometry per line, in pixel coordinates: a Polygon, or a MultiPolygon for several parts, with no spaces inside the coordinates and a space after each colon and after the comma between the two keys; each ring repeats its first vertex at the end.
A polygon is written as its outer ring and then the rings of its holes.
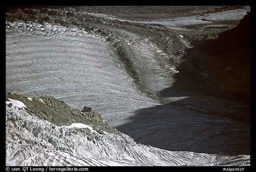
{"type": "Polygon", "coordinates": [[[167,151],[88,126],[56,126],[6,105],[6,166],[246,166],[249,155],[167,151]]]}

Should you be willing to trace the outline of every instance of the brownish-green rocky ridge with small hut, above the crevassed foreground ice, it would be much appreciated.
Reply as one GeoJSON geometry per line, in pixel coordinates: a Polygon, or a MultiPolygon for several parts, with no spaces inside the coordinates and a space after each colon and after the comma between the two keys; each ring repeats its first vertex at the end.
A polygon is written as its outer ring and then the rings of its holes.
{"type": "MultiPolygon", "coordinates": [[[[96,111],[84,112],[84,109],[80,110],[71,108],[63,101],[52,96],[27,98],[24,95],[6,92],[6,102],[8,102],[9,99],[23,102],[26,106],[25,111],[30,115],[41,120],[47,120],[57,126],[68,126],[72,123],[83,123],[85,125],[92,125],[92,128],[99,133],[103,133],[103,131],[105,131],[111,134],[128,137],[126,134],[120,133],[116,129],[110,127],[107,123],[104,123],[100,114],[96,111]]],[[[8,107],[12,107],[12,103],[9,103],[8,107]]]]}

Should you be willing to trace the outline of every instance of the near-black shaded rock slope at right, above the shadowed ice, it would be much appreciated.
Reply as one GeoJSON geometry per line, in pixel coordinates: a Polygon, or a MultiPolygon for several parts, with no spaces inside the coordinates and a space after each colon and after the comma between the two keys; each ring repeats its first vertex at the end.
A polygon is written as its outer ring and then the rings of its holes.
{"type": "Polygon", "coordinates": [[[217,39],[204,38],[192,45],[178,68],[178,81],[190,74],[190,89],[197,93],[250,101],[250,13],[217,39]]]}

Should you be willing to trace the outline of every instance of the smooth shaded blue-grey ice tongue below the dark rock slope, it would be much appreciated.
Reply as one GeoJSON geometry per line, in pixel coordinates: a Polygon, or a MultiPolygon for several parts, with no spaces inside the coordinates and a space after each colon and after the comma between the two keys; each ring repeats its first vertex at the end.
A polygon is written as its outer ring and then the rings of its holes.
{"type": "Polygon", "coordinates": [[[169,104],[136,110],[116,127],[134,141],[170,151],[250,154],[250,127],[169,104]]]}

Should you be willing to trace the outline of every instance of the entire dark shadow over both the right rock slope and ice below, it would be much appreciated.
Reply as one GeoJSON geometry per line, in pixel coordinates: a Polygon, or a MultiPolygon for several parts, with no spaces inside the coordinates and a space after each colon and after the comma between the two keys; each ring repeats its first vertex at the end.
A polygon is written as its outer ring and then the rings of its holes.
{"type": "Polygon", "coordinates": [[[116,129],[136,142],[170,151],[250,154],[250,54],[244,54],[250,50],[249,36],[239,41],[244,28],[195,44],[172,76],[172,87],[159,92],[162,105],[136,110],[116,129]],[[229,47],[223,49],[226,44],[229,47]],[[220,70],[224,64],[239,70],[220,70]],[[207,78],[201,76],[201,68],[207,78]],[[213,81],[225,84],[216,86],[213,81]]]}

